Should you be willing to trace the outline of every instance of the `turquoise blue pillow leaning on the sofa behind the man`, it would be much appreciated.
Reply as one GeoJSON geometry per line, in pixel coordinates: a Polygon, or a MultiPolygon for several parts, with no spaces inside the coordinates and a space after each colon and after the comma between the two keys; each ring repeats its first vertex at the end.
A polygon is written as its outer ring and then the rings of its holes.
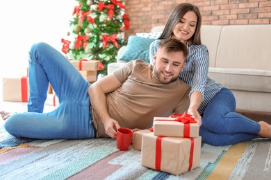
{"type": "Polygon", "coordinates": [[[129,36],[125,51],[119,60],[129,62],[140,59],[149,62],[149,45],[155,40],[146,37],[129,36]]]}

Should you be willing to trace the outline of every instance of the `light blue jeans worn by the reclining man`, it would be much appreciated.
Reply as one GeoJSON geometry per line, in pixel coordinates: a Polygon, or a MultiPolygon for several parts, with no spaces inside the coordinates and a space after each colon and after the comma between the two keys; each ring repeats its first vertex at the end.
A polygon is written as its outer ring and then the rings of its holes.
{"type": "Polygon", "coordinates": [[[60,52],[45,43],[33,44],[29,51],[28,112],[10,116],[7,132],[26,138],[93,138],[87,82],[60,52]],[[60,106],[43,113],[48,84],[60,106]]]}

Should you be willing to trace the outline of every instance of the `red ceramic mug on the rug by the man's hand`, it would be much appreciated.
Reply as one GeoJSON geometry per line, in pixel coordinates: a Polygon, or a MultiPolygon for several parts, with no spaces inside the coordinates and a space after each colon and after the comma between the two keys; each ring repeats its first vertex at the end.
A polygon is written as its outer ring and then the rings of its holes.
{"type": "Polygon", "coordinates": [[[126,127],[117,129],[117,149],[121,151],[129,150],[133,138],[133,131],[126,127]]]}

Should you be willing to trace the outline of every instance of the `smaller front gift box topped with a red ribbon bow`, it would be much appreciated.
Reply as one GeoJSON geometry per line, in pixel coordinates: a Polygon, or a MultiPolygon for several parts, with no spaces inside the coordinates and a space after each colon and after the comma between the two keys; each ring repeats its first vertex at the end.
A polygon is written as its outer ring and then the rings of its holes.
{"type": "Polygon", "coordinates": [[[199,124],[186,112],[172,114],[171,118],[154,117],[154,135],[196,138],[199,124]]]}

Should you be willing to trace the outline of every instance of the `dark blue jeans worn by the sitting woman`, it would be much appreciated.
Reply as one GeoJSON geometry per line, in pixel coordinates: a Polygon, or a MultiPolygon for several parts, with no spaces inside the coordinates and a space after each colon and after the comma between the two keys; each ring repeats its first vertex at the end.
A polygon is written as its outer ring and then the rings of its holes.
{"type": "Polygon", "coordinates": [[[227,88],[215,95],[202,116],[199,134],[209,145],[232,145],[258,136],[260,125],[236,111],[236,100],[227,88]]]}

